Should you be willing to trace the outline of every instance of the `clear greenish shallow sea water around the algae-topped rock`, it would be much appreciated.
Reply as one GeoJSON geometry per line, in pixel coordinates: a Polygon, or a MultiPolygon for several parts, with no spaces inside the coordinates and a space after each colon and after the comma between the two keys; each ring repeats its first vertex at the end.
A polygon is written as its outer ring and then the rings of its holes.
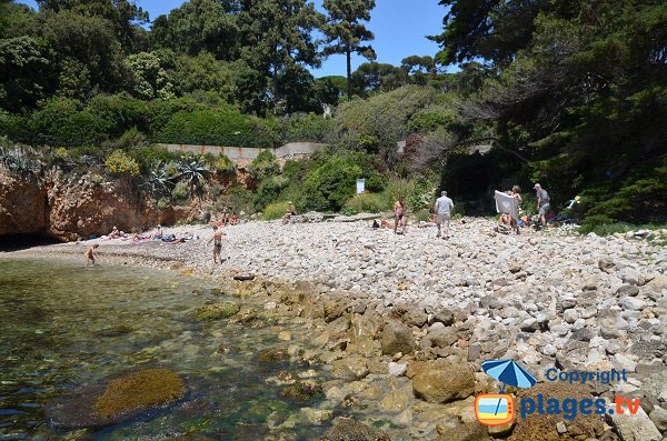
{"type": "MultiPolygon", "coordinates": [[[[261,350],[286,348],[279,331],[302,333],[297,323],[193,322],[193,308],[233,299],[207,293],[209,287],[191,278],[81,267],[0,260],[0,439],[260,440],[276,434],[268,421],[279,424],[320,400],[293,402],[283,387],[266,381],[307,368],[257,360],[261,350]],[[148,368],[180,374],[189,388],[185,403],[83,431],[49,421],[57,399],[148,368]]],[[[310,440],[323,430],[297,424],[271,439],[310,440]]]]}

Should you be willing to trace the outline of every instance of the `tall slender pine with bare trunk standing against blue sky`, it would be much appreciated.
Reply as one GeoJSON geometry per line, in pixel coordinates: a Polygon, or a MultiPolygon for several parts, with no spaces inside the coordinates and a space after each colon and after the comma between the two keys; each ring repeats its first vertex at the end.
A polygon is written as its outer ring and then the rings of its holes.
{"type": "Polygon", "coordinates": [[[372,47],[364,46],[372,41],[375,36],[366,29],[362,21],[370,20],[370,11],[375,8],[375,0],[325,0],[327,19],[322,26],[326,36],[323,54],[331,56],[345,53],[347,59],[347,96],[352,97],[352,53],[369,61],[376,59],[372,47]]]}

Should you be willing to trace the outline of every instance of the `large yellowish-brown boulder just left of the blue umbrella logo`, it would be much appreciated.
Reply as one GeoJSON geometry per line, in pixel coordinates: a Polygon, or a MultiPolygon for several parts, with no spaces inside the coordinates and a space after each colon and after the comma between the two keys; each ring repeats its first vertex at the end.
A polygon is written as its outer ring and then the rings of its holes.
{"type": "Polygon", "coordinates": [[[475,370],[470,364],[427,361],[412,379],[415,395],[430,403],[464,400],[475,393],[475,370]]]}

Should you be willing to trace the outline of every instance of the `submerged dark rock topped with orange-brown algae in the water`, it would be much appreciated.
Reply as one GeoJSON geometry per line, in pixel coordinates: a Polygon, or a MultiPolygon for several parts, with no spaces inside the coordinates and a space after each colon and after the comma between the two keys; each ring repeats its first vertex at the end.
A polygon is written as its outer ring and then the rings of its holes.
{"type": "Polygon", "coordinates": [[[66,397],[49,410],[49,418],[59,428],[109,425],[171,405],[186,392],[186,383],[175,372],[148,369],[66,397]]]}

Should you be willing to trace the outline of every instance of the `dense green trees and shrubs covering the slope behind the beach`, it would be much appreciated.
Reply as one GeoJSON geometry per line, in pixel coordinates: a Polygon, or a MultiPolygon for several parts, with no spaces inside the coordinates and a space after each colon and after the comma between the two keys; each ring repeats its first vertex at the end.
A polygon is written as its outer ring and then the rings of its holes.
{"type": "Polygon", "coordinates": [[[397,189],[417,211],[439,176],[469,212],[491,208],[494,189],[539,181],[557,210],[580,196],[569,214],[588,229],[667,220],[659,1],[442,0],[444,31],[430,37],[442,50],[398,67],[374,61],[372,1],[321,12],[306,0],[186,1],[150,31],[132,2],[97,3],[0,3],[6,168],[130,179],[161,207],[269,206],[269,218],[288,200],[299,210],[387,209],[397,189]],[[308,70],[351,52],[369,62],[348,78],[308,70]],[[458,72],[446,73],[452,64],[458,72]],[[288,141],[331,149],[282,170],[265,153],[237,180],[226,158],[150,147],[288,141]],[[357,178],[371,194],[354,194],[357,178]]]}

